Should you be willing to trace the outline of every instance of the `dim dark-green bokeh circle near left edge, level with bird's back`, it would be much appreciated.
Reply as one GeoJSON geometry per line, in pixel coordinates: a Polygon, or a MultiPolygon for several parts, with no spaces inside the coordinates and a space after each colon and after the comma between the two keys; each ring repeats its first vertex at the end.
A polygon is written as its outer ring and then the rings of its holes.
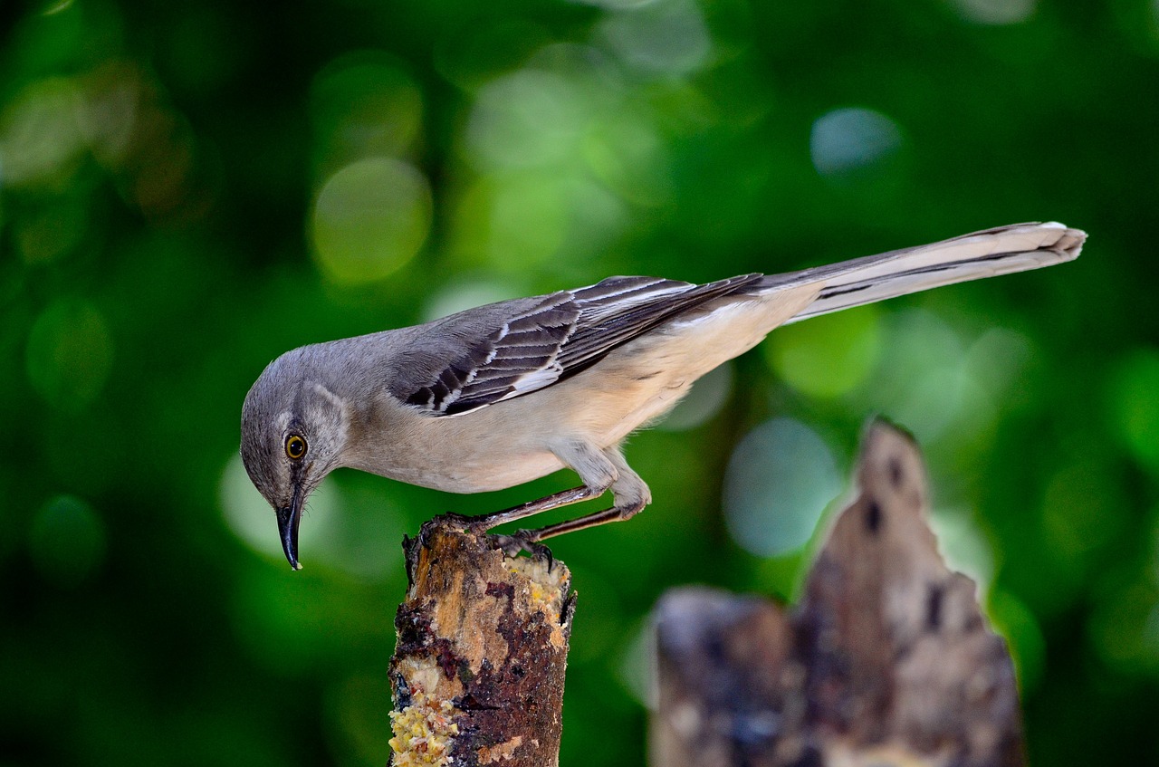
{"type": "Polygon", "coordinates": [[[53,407],[76,411],[104,387],[112,367],[112,336],[92,305],[61,299],[32,324],[28,378],[53,407]]]}

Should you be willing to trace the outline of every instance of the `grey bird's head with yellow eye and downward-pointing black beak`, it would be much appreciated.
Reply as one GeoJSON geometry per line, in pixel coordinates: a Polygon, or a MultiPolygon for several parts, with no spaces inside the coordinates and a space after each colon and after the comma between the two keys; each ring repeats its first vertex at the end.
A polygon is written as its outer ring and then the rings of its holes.
{"type": "Polygon", "coordinates": [[[349,416],[344,401],[312,375],[302,350],[262,372],[241,409],[241,460],[277,513],[282,549],[298,563],[298,524],[306,498],[340,466],[349,416]]]}

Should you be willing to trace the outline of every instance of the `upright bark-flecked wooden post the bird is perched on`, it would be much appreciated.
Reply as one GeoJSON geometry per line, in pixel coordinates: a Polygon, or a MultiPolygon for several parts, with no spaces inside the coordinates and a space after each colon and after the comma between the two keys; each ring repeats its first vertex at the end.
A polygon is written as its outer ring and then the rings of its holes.
{"type": "Polygon", "coordinates": [[[567,567],[505,557],[439,520],[403,546],[391,764],[557,765],[575,606],[567,567]]]}

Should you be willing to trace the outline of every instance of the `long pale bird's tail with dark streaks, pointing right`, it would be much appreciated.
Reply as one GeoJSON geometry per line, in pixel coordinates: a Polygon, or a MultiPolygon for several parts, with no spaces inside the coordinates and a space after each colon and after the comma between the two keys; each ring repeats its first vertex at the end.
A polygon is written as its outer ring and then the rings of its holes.
{"type": "Polygon", "coordinates": [[[1014,224],[918,248],[770,275],[759,288],[765,292],[822,283],[817,298],[789,320],[797,322],[931,287],[1071,261],[1085,240],[1085,232],[1062,224],[1014,224]]]}

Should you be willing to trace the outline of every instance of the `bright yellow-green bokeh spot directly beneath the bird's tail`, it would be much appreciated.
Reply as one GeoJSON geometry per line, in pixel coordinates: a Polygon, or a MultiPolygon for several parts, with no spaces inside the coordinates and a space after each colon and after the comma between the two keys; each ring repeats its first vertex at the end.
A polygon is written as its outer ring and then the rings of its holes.
{"type": "Polygon", "coordinates": [[[881,352],[880,311],[865,306],[779,329],[765,344],[767,359],[803,394],[836,397],[868,377],[881,352]]]}

